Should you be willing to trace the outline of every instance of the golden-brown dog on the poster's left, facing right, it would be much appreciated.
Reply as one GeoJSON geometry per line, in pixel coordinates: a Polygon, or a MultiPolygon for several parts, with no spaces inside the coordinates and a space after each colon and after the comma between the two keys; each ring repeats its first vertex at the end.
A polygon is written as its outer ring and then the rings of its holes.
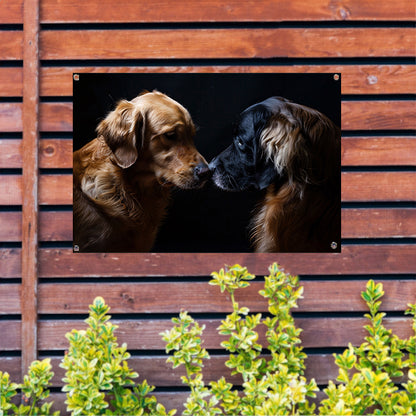
{"type": "Polygon", "coordinates": [[[80,251],[150,251],[170,188],[200,187],[208,172],[188,111],[145,92],[122,100],[74,152],[74,245],[80,251]]]}

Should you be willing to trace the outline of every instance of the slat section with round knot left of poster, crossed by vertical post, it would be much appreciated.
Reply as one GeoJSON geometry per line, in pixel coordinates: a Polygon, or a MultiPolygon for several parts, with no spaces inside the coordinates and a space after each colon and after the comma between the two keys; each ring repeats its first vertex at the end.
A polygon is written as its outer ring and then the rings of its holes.
{"type": "MultiPolygon", "coordinates": [[[[0,139],[0,169],[22,167],[22,141],[0,139]]],[[[71,139],[42,139],[39,148],[39,167],[72,168],[71,139]]]]}

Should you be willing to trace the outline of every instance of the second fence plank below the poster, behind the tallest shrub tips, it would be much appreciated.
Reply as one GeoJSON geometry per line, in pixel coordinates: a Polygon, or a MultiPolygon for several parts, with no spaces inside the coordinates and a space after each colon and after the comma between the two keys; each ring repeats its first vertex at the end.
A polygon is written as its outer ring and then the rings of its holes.
{"type": "MultiPolygon", "coordinates": [[[[361,298],[367,281],[302,281],[303,299],[296,312],[365,312],[361,298]],[[325,302],[322,302],[325,299],[325,302]],[[348,302],[345,302],[348,299],[348,302]]],[[[404,311],[416,302],[416,281],[383,282],[383,311],[404,311]]],[[[267,311],[267,301],[259,295],[263,282],[252,282],[249,288],[236,293],[236,300],[250,311],[267,311]]],[[[100,294],[111,313],[231,313],[229,296],[221,295],[208,282],[180,283],[48,283],[39,285],[39,313],[82,314],[100,294]]]]}

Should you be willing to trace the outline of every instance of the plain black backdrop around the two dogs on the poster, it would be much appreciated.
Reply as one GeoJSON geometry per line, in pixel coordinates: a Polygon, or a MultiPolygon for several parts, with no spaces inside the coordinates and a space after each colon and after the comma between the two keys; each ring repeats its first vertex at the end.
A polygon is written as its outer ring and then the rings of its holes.
{"type": "MultiPolygon", "coordinates": [[[[74,81],[74,150],[120,99],[157,89],[180,102],[198,127],[195,144],[209,162],[232,140],[246,107],[278,95],[341,124],[341,79],[333,74],[80,74],[74,81]]],[[[261,192],[224,192],[212,185],[172,193],[154,252],[250,252],[248,225],[261,192]]]]}

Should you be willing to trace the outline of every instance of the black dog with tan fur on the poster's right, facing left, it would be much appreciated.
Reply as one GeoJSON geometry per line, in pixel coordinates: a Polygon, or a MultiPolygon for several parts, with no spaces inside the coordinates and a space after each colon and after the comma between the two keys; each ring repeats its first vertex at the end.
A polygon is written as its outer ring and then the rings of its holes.
{"type": "Polygon", "coordinates": [[[285,98],[243,111],[232,144],[210,169],[221,189],[267,189],[252,223],[257,252],[340,247],[340,146],[329,118],[285,98]]]}

